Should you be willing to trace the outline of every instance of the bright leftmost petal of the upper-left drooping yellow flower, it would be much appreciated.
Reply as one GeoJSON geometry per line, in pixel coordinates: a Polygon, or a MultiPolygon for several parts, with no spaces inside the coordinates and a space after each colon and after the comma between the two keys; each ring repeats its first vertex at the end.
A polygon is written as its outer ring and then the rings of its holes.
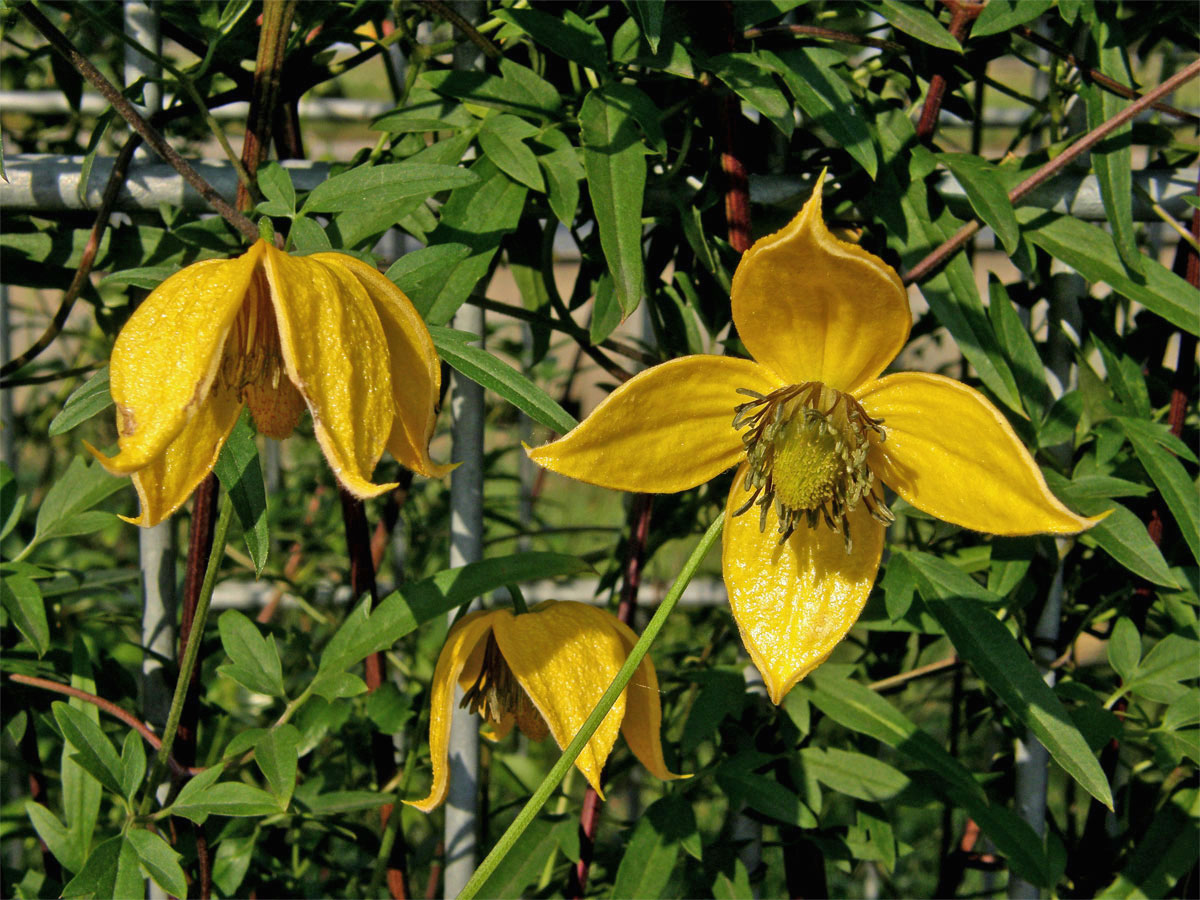
{"type": "Polygon", "coordinates": [[[109,365],[121,451],[100,457],[114,475],[160,456],[208,397],[263,246],[181,269],[125,323],[109,365]]]}

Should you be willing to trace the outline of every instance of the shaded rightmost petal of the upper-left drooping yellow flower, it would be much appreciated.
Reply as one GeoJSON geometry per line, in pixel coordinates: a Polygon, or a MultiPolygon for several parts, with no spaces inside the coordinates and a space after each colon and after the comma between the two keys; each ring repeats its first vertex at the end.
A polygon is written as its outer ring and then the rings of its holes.
{"type": "Polygon", "coordinates": [[[420,313],[400,288],[352,256],[314,253],[308,258],[348,270],[366,289],[379,314],[388,341],[391,391],[396,403],[396,419],[388,438],[388,450],[402,466],[419,475],[443,478],[449,474],[454,466],[430,460],[430,438],[433,437],[442,386],[442,364],[420,313]]]}

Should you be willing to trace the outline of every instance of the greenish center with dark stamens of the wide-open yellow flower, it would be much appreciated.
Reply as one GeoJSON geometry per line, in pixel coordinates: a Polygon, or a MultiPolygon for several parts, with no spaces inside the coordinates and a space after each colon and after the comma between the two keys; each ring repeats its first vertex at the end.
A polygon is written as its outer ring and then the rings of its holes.
{"type": "Polygon", "coordinates": [[[804,382],[758,394],[734,408],[733,427],[746,428],[744,487],[750,499],[734,512],[760,508],[758,528],[767,529],[767,510],[779,516],[780,542],[787,540],[802,518],[809,528],[817,522],[839,532],[850,551],[847,517],[859,503],[884,524],[893,516],[875,494],[875,474],[866,463],[870,432],[883,440],[882,421],[872,419],[848,394],[821,382],[804,382]]]}

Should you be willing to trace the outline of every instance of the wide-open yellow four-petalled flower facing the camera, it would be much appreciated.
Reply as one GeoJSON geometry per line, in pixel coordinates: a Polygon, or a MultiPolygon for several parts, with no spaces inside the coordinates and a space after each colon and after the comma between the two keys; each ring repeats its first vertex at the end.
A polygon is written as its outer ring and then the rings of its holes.
{"type": "Polygon", "coordinates": [[[731,300],[754,360],[695,355],[648,368],[529,456],[647,493],[738,467],[721,568],[775,703],[866,602],[892,521],[882,485],[990,534],[1074,534],[1099,521],[1050,493],[978,391],[936,374],[881,377],[908,338],[908,299],[889,265],[826,228],[821,180],[786,228],[742,257],[731,300]]]}

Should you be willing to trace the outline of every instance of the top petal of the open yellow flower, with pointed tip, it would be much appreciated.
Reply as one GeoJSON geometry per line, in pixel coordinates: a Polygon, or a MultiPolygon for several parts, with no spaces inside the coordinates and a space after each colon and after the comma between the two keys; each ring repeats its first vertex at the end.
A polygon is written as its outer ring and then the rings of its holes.
{"type": "Polygon", "coordinates": [[[733,324],[750,355],[784,382],[846,391],[895,359],[912,314],[895,270],[826,228],[822,181],[791,224],[742,257],[733,324]]]}

